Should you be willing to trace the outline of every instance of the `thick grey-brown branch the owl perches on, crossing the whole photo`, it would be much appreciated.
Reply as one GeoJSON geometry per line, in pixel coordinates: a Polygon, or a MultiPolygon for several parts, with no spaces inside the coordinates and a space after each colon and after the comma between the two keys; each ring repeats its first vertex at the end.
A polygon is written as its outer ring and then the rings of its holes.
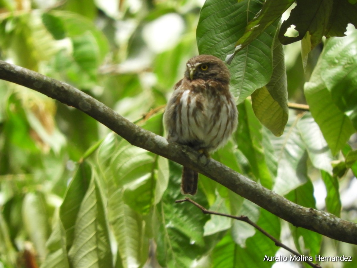
{"type": "Polygon", "coordinates": [[[73,106],[132,145],[196,170],[296,227],[303,227],[342,242],[357,244],[357,224],[330,213],[297,205],[213,159],[208,164],[206,161],[201,163],[197,161],[199,154],[195,150],[177,143],[168,143],[165,138],[140,128],[98,100],[66,83],[4,61],[0,61],[0,79],[26,86],[73,106]]]}

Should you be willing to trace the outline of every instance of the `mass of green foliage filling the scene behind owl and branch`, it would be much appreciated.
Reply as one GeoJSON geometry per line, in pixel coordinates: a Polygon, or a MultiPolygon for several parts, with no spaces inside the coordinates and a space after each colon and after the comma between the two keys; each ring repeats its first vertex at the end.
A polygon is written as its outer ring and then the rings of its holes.
{"type": "MultiPolygon", "coordinates": [[[[164,135],[164,105],[185,62],[198,51],[223,59],[232,53],[262,4],[0,1],[0,58],[74,85],[164,135]]],[[[275,52],[283,50],[274,42],[277,27],[268,26],[233,59],[239,126],[212,157],[293,202],[356,222],[356,30],[314,44],[304,65],[308,36],[302,46],[285,46],[284,57],[275,52]],[[283,59],[285,66],[273,64],[283,59]],[[286,78],[266,85],[285,68],[286,78]],[[311,113],[287,111],[284,100],[274,99],[272,90],[282,86],[281,96],[286,84],[289,100],[307,101],[311,113]]],[[[265,255],[287,252],[245,223],[175,204],[182,198],[178,164],[4,81],[0,148],[0,267],[29,267],[28,253],[41,267],[301,265],[263,262],[265,255]]],[[[247,215],[301,254],[356,256],[355,245],[295,228],[203,176],[195,200],[247,215]]],[[[322,264],[353,267],[356,261],[322,264]]]]}

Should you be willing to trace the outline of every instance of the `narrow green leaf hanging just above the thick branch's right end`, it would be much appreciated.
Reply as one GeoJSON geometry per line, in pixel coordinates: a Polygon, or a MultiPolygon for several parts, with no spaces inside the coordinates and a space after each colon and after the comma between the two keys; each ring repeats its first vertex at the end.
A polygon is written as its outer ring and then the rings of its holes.
{"type": "Polygon", "coordinates": [[[336,177],[331,176],[327,172],[321,170],[322,180],[326,186],[327,196],[325,198],[326,209],[328,212],[340,217],[341,214],[341,199],[338,190],[339,184],[336,177]]]}

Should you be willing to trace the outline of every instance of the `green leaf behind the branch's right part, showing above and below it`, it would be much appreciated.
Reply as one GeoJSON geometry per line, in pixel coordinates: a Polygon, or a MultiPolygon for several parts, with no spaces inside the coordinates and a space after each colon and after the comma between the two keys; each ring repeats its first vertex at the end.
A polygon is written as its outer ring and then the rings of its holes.
{"type": "MultiPolygon", "coordinates": [[[[292,202],[302,205],[304,207],[316,208],[313,191],[313,185],[311,181],[308,180],[305,184],[301,185],[295,190],[292,190],[285,197],[291,200],[292,202]]],[[[289,224],[289,227],[292,232],[295,246],[298,252],[300,252],[301,254],[305,254],[306,249],[308,249],[308,254],[310,256],[320,254],[320,247],[322,241],[321,234],[312,232],[304,228],[295,227],[292,224],[289,224]]]]}

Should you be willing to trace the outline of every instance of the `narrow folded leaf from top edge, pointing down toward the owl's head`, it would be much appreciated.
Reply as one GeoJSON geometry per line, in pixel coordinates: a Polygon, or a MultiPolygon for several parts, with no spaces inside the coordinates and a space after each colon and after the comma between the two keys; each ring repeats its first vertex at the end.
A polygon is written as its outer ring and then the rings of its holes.
{"type": "Polygon", "coordinates": [[[246,26],[245,33],[237,41],[236,46],[240,49],[245,48],[257,38],[274,21],[280,19],[280,16],[294,3],[295,0],[267,0],[257,16],[246,26]]]}

